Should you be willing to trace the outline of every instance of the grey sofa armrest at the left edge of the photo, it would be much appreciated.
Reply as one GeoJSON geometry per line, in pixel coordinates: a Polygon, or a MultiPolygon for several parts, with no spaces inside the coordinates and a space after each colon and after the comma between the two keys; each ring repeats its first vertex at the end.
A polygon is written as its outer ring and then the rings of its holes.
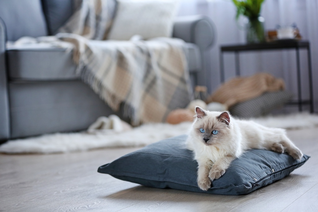
{"type": "Polygon", "coordinates": [[[5,60],[6,30],[0,18],[0,140],[7,140],[10,136],[8,83],[5,60]]]}

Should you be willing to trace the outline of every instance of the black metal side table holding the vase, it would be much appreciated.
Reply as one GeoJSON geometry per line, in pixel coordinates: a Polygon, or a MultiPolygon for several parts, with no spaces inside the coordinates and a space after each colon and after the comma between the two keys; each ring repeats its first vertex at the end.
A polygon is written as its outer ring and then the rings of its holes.
{"type": "Polygon", "coordinates": [[[281,50],[281,49],[295,49],[296,51],[296,65],[297,65],[297,88],[298,88],[298,101],[291,102],[291,104],[297,104],[299,111],[302,111],[302,105],[310,105],[310,113],[314,113],[314,94],[313,94],[313,79],[311,70],[311,55],[310,55],[310,44],[309,41],[298,41],[298,40],[278,40],[268,43],[257,43],[257,44],[238,44],[238,45],[226,45],[221,46],[220,52],[220,77],[221,83],[225,80],[224,74],[224,52],[235,53],[235,72],[237,76],[240,76],[239,67],[239,52],[241,51],[263,51],[263,50],[281,50]],[[301,98],[301,71],[300,71],[300,59],[299,49],[307,49],[308,59],[308,77],[309,77],[309,100],[302,100],[301,98]]]}

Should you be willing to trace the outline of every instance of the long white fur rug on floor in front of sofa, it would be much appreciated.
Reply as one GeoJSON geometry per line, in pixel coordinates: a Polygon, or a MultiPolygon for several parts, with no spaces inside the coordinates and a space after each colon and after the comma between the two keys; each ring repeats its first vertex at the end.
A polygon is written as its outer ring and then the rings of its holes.
{"type": "MultiPolygon", "coordinates": [[[[296,113],[283,116],[253,119],[267,127],[301,129],[318,127],[318,115],[296,113]]],[[[182,135],[190,128],[190,122],[177,125],[147,124],[132,130],[118,132],[115,130],[88,131],[80,133],[55,133],[39,137],[10,140],[0,146],[1,153],[66,153],[86,151],[106,147],[140,147],[158,140],[182,135]]]]}

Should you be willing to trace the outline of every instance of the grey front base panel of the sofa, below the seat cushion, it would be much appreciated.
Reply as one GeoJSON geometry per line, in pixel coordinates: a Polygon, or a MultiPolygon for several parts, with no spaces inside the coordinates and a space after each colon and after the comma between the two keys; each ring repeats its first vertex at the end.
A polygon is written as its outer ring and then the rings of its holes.
{"type": "Polygon", "coordinates": [[[116,114],[79,80],[11,82],[10,138],[85,130],[100,116],[116,114]]]}

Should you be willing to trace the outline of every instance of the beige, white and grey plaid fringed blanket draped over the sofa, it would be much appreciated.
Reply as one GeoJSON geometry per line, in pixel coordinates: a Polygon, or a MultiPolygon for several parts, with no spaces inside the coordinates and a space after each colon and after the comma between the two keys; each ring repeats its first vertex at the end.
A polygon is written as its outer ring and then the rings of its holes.
{"type": "Polygon", "coordinates": [[[83,0],[80,10],[60,29],[69,33],[56,37],[74,44],[73,58],[82,80],[113,110],[123,103],[132,125],[164,122],[169,112],[187,106],[192,96],[184,42],[173,38],[88,40],[107,34],[106,19],[92,21],[109,17],[103,14],[108,11],[107,2],[83,0]]]}

